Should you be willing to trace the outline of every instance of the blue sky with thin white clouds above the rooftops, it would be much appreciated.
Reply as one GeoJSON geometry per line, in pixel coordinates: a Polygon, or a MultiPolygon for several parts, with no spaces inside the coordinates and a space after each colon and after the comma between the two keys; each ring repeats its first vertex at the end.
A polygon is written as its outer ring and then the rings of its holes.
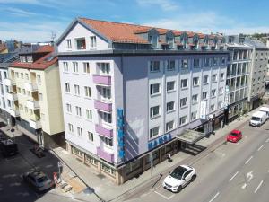
{"type": "Polygon", "coordinates": [[[268,0],[0,0],[0,40],[56,39],[75,17],[204,33],[269,32],[268,0]],[[258,4],[257,4],[258,2],[258,4]]]}

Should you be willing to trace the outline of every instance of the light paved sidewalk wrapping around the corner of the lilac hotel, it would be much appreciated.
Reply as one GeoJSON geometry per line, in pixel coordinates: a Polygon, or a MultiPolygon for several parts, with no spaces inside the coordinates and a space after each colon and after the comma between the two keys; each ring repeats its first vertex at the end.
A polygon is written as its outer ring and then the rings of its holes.
{"type": "MultiPolygon", "coordinates": [[[[256,109],[257,110],[257,109],[256,109]]],[[[196,145],[201,145],[207,148],[211,148],[214,146],[222,145],[225,141],[226,136],[232,129],[240,128],[248,119],[250,119],[251,114],[256,110],[252,110],[248,112],[246,115],[242,116],[241,119],[236,119],[229,124],[229,126],[225,126],[217,131],[215,131],[214,135],[204,137],[200,141],[196,143],[196,145]]],[[[13,134],[10,131],[11,127],[2,127],[6,134],[13,137],[13,134]]],[[[21,136],[22,132],[15,130],[15,136],[21,136]]],[[[167,171],[172,170],[172,167],[184,163],[191,163],[194,159],[202,158],[206,149],[200,153],[201,155],[190,155],[184,152],[178,152],[172,156],[173,162],[168,163],[167,161],[161,162],[157,164],[152,170],[143,172],[138,178],[134,178],[133,180],[126,181],[125,184],[117,186],[112,181],[107,178],[102,178],[98,175],[97,172],[91,170],[86,165],[82,164],[82,162],[78,162],[73,154],[69,154],[63,148],[58,147],[53,150],[52,153],[56,153],[70,168],[68,168],[64,163],[63,174],[65,178],[78,180],[78,183],[82,183],[79,178],[75,175],[75,173],[85,182],[88,186],[94,189],[96,195],[93,193],[66,193],[64,194],[66,197],[72,197],[76,199],[81,199],[83,201],[100,201],[100,199],[104,201],[119,201],[125,195],[128,195],[135,191],[140,186],[143,186],[146,182],[152,180],[152,184],[159,179],[161,173],[166,173],[167,171]],[[180,163],[181,162],[181,163],[180,163]],[[74,172],[75,173],[74,173],[74,172]]]]}

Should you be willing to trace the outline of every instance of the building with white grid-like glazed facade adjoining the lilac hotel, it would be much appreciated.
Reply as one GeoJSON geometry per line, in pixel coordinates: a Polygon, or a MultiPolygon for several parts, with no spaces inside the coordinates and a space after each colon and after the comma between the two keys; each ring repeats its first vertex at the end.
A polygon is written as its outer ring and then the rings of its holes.
{"type": "Polygon", "coordinates": [[[241,35],[226,36],[226,48],[230,52],[226,81],[226,123],[237,119],[248,109],[249,73],[252,66],[253,48],[241,35]]]}

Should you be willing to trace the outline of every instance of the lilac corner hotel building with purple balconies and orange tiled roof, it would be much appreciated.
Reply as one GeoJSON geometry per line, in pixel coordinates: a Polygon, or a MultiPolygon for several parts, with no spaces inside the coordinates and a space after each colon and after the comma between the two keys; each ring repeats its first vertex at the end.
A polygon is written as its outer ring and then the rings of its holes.
{"type": "Polygon", "coordinates": [[[223,45],[216,35],[75,19],[57,41],[67,149],[120,184],[221,127],[223,45]]]}

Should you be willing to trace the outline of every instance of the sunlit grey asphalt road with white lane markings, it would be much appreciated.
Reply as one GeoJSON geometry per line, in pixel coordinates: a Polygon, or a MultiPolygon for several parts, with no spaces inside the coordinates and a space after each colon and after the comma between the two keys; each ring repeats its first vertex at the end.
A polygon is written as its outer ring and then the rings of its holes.
{"type": "Polygon", "coordinates": [[[237,144],[221,145],[192,164],[197,178],[179,193],[161,187],[141,189],[128,201],[187,202],[268,202],[269,201],[269,121],[260,128],[242,128],[237,144]],[[268,128],[268,130],[267,130],[268,128]]]}

